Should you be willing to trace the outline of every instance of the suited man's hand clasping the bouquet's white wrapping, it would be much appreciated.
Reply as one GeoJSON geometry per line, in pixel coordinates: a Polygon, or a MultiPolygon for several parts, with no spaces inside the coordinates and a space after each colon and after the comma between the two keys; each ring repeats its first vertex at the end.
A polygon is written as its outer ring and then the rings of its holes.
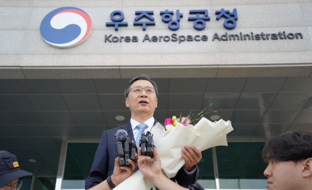
{"type": "Polygon", "coordinates": [[[182,148],[182,158],[185,161],[183,166],[185,171],[191,172],[195,165],[201,160],[201,152],[194,146],[185,145],[182,148]]]}

